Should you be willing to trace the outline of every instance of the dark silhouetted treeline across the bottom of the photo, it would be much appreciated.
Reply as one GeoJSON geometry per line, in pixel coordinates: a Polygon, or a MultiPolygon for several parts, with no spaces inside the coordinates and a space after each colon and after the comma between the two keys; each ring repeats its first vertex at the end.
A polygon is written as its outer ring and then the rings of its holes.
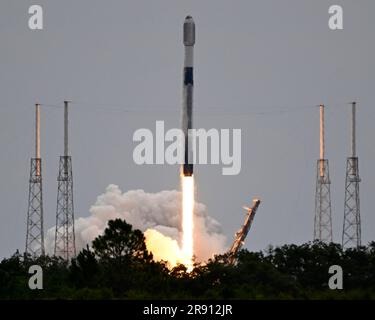
{"type": "Polygon", "coordinates": [[[141,231],[109,221],[91,248],[70,263],[14,254],[0,263],[0,299],[374,299],[375,242],[342,250],[320,242],[265,252],[242,250],[237,263],[216,256],[188,273],[152,260],[141,231]],[[31,265],[43,270],[43,290],[28,286],[31,265]],[[343,290],[328,287],[329,267],[343,269],[343,290]]]}

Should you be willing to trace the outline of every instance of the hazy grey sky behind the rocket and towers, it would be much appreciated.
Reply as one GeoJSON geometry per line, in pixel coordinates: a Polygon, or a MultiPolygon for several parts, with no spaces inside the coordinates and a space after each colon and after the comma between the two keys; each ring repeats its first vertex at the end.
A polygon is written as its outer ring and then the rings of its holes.
{"type": "MultiPolygon", "coordinates": [[[[180,121],[182,24],[196,23],[194,126],[242,129],[242,170],[196,167],[197,198],[232,241],[243,205],[262,204],[250,250],[312,240],[319,103],[327,105],[334,240],[341,240],[349,105],[358,101],[363,243],[375,239],[375,2],[23,1],[0,2],[0,257],[24,250],[34,103],[72,100],[70,150],[76,217],[106,186],[179,188],[178,166],[138,166],[133,132],[180,121]],[[44,30],[28,29],[28,8],[44,30]],[[344,9],[344,30],[328,8],[344,9]],[[134,110],[121,112],[119,110],[134,110]],[[285,111],[285,112],[284,112],[285,111]],[[265,114],[262,114],[265,112],[265,114]]],[[[55,223],[63,113],[42,115],[45,229],[55,223]]]]}

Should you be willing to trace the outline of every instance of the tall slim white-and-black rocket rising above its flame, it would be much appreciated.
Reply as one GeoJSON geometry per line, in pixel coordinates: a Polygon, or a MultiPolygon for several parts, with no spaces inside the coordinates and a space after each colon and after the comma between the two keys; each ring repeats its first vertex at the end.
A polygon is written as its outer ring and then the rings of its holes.
{"type": "Polygon", "coordinates": [[[189,129],[193,126],[193,68],[194,68],[195,24],[192,17],[187,16],[184,22],[184,72],[183,72],[183,102],[182,102],[182,131],[185,135],[185,150],[183,175],[193,175],[192,136],[189,129]]]}

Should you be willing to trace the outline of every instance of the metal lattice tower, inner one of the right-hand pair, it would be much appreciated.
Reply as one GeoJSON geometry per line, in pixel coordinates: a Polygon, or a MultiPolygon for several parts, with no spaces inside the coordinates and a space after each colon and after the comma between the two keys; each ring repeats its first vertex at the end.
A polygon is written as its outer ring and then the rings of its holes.
{"type": "Polygon", "coordinates": [[[331,181],[324,159],[324,105],[320,105],[320,159],[317,161],[314,240],[332,242],[331,181]]]}

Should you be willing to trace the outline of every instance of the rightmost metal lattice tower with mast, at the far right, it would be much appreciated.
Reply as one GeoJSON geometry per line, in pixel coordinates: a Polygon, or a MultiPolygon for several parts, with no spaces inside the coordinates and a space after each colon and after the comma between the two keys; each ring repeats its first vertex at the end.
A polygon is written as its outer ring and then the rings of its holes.
{"type": "Polygon", "coordinates": [[[352,103],[352,134],[351,156],[346,160],[344,224],[342,232],[342,246],[361,246],[361,215],[359,209],[359,178],[358,157],[356,156],[356,103],[352,103]]]}

